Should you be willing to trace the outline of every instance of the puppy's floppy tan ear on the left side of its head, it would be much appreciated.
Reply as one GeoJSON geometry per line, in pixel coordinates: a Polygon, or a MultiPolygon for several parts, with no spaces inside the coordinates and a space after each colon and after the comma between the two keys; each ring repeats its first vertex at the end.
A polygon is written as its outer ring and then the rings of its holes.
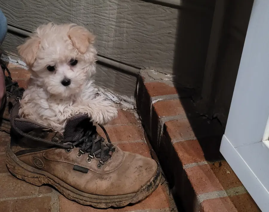
{"type": "Polygon", "coordinates": [[[27,65],[31,66],[35,62],[39,44],[39,37],[31,37],[30,39],[27,39],[24,44],[17,47],[19,55],[27,65]]]}

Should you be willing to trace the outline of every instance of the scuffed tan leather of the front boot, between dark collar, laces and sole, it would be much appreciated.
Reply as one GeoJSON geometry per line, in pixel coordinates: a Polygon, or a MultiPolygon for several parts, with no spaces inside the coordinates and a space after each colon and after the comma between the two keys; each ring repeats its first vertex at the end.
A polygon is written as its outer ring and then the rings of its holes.
{"type": "Polygon", "coordinates": [[[158,169],[157,163],[151,158],[123,152],[118,147],[112,158],[100,169],[97,168],[97,158],[87,163],[87,155],[77,158],[77,151],[77,148],[70,153],[62,149],[50,149],[18,158],[29,166],[52,174],[77,190],[103,196],[135,193],[155,176],[158,169]],[[33,157],[39,158],[44,167],[37,167],[33,163],[33,157]],[[74,165],[86,167],[89,171],[75,171],[74,165]]]}

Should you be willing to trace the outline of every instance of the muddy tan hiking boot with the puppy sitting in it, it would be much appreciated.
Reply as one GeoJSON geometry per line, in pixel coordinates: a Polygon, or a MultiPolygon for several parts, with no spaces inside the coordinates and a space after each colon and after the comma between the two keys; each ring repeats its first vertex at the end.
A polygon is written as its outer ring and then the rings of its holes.
{"type": "Polygon", "coordinates": [[[152,158],[124,152],[96,132],[88,115],[68,120],[63,134],[11,110],[7,167],[17,178],[49,184],[70,200],[96,208],[123,207],[151,194],[161,170],[152,158]]]}

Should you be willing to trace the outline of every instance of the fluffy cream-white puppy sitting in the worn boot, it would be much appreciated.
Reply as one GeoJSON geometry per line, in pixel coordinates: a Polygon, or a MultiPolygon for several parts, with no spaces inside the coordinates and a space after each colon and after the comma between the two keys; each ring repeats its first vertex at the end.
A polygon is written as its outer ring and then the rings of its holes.
{"type": "Polygon", "coordinates": [[[32,74],[19,115],[59,132],[80,113],[99,124],[117,116],[117,109],[97,94],[91,80],[96,70],[94,38],[84,27],[49,23],[18,47],[32,74]]]}

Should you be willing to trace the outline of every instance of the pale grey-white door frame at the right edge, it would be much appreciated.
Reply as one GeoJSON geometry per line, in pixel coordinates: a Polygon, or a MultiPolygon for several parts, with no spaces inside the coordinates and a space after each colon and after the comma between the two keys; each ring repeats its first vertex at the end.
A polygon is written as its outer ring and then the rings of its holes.
{"type": "Polygon", "coordinates": [[[264,212],[269,211],[268,85],[269,0],[254,0],[220,151],[264,212]]]}

